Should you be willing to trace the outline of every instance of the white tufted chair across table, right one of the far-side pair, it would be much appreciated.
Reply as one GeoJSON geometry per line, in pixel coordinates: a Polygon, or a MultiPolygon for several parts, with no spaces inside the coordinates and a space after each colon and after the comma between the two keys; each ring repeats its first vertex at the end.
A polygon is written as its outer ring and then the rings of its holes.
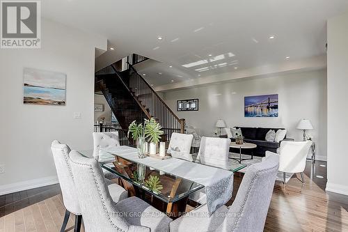
{"type": "MultiPolygon", "coordinates": [[[[230,139],[217,137],[202,137],[196,162],[221,169],[228,169],[228,153],[230,150],[230,139]]],[[[205,188],[198,190],[189,196],[189,199],[198,203],[207,203],[205,188]]]]}

